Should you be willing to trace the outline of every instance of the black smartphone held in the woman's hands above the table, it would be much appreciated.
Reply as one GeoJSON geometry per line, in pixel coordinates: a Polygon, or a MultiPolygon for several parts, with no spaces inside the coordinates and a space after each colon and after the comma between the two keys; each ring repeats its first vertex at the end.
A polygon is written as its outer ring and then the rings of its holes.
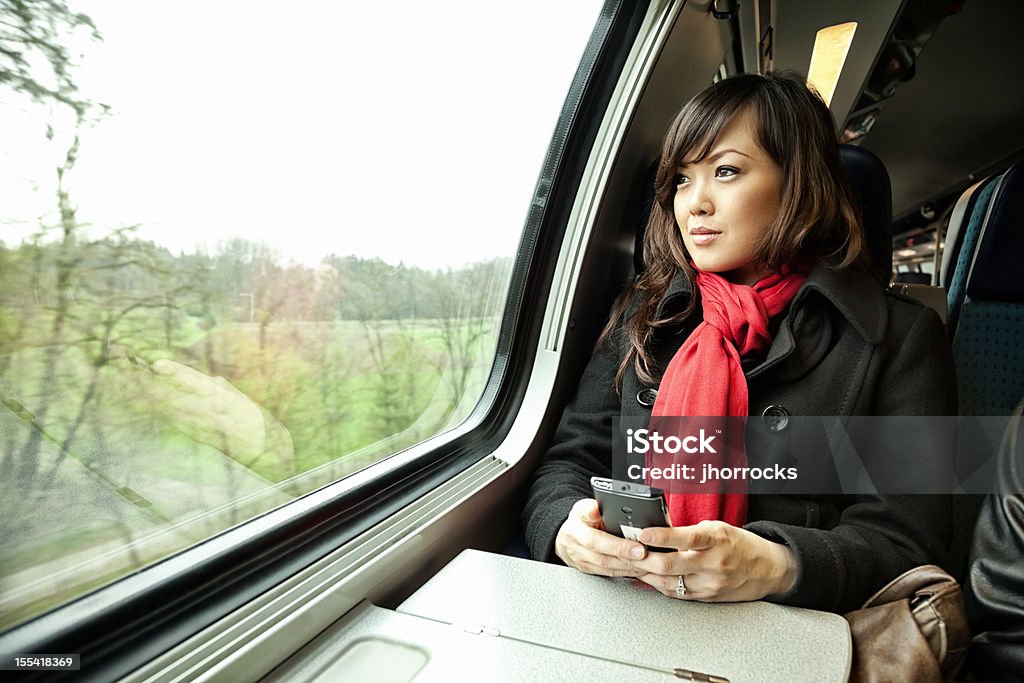
{"type": "MultiPolygon", "coordinates": [[[[604,477],[591,477],[590,485],[608,533],[639,541],[640,531],[648,526],[672,526],[660,488],[604,477]]],[[[676,550],[656,546],[647,549],[658,553],[676,550]]]]}

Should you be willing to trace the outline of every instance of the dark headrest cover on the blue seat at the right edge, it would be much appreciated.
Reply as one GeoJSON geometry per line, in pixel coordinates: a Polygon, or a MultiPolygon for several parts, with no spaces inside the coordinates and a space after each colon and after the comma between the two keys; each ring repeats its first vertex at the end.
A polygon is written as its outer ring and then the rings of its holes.
{"type": "Polygon", "coordinates": [[[982,228],[967,294],[981,301],[1024,303],[1024,162],[1002,175],[982,228]]]}

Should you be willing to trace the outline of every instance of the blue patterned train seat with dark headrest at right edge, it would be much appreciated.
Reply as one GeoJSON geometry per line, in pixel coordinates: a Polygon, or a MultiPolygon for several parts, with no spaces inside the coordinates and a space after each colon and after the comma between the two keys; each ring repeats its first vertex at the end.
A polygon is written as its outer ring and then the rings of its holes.
{"type": "MultiPolygon", "coordinates": [[[[953,337],[961,414],[1010,415],[1024,395],[1024,278],[1020,275],[1024,162],[981,191],[991,191],[992,199],[977,249],[971,250],[975,253],[967,268],[953,337]]],[[[970,256],[971,228],[984,202],[982,195],[957,257],[957,270],[970,256]]],[[[954,286],[958,274],[953,275],[954,286]]]]}

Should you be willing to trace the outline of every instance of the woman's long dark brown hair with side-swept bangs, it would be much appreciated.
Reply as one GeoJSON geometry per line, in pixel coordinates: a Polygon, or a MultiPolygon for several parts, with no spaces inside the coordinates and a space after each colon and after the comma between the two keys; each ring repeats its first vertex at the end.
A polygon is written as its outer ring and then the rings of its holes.
{"type": "Polygon", "coordinates": [[[758,144],[781,166],[783,178],[779,212],[755,247],[757,261],[772,271],[808,268],[818,261],[837,269],[866,263],[860,214],[840,166],[835,122],[821,97],[791,73],[719,81],[683,106],[665,136],[644,233],[644,270],[598,342],[622,321],[629,351],[615,375],[618,389],[631,362],[642,382],[656,383],[647,349],[650,337],[657,328],[682,322],[696,303],[691,297],[685,310],[657,317],[658,303],[676,273],[682,271],[696,291],[696,275],[673,210],[677,170],[684,159],[696,163],[707,158],[729,121],[748,109],[757,121],[758,144]],[[638,307],[623,321],[633,306],[638,307]]]}

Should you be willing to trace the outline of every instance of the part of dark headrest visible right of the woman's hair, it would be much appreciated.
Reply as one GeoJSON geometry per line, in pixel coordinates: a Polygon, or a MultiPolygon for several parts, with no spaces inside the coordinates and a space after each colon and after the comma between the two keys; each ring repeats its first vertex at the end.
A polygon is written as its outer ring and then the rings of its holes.
{"type": "Polygon", "coordinates": [[[860,202],[864,239],[871,263],[887,275],[893,269],[893,196],[885,164],[863,147],[839,145],[846,181],[860,202]]]}

